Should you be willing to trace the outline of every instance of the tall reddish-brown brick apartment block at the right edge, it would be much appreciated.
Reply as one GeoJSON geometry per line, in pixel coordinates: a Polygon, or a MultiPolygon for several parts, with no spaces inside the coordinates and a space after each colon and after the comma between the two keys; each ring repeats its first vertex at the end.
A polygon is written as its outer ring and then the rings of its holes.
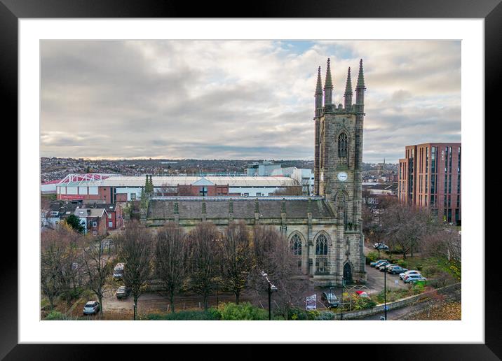
{"type": "Polygon", "coordinates": [[[446,222],[461,222],[461,143],[423,143],[399,160],[398,199],[427,206],[446,222]]]}

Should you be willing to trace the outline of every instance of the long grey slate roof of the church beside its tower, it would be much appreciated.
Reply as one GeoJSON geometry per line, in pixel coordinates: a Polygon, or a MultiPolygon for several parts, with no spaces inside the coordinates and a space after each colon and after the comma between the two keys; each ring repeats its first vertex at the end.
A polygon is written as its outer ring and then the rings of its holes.
{"type": "MultiPolygon", "coordinates": [[[[175,218],[175,199],[152,199],[149,202],[147,219],[175,218]]],[[[233,199],[233,218],[255,218],[256,199],[233,199]]],[[[201,218],[201,200],[177,199],[180,219],[201,218]]],[[[263,218],[280,218],[282,200],[259,199],[259,213],[263,218]]],[[[206,218],[227,218],[229,216],[230,199],[206,199],[206,218]]],[[[308,199],[285,200],[287,218],[307,218],[308,199]]],[[[311,213],[313,218],[332,218],[330,208],[323,199],[311,201],[311,213]]]]}

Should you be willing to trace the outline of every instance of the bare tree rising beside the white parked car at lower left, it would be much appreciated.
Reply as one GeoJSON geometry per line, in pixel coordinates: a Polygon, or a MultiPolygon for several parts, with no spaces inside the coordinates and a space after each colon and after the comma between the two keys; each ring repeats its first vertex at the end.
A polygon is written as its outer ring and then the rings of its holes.
{"type": "Polygon", "coordinates": [[[84,272],[88,278],[87,286],[93,291],[100,302],[100,314],[103,313],[103,295],[106,291],[104,284],[111,274],[110,253],[103,252],[102,240],[104,237],[86,237],[83,250],[84,272]]]}

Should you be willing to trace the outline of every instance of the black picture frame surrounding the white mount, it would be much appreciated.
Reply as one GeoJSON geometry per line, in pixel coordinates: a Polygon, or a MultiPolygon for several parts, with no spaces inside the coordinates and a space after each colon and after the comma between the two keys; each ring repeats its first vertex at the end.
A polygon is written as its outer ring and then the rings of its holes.
{"type": "MultiPolygon", "coordinates": [[[[502,5],[501,0],[379,0],[379,1],[252,1],[240,4],[225,2],[153,1],[153,0],[0,0],[0,102],[4,122],[14,123],[18,118],[18,20],[21,18],[82,18],[82,17],[386,17],[386,18],[483,18],[485,36],[485,118],[499,119],[498,85],[502,79],[502,5]],[[498,109],[497,109],[498,110],[498,109]],[[498,116],[497,116],[498,115],[498,116]]],[[[465,101],[466,99],[463,99],[465,101]]],[[[484,120],[478,120],[480,125],[484,120]]],[[[468,151],[468,150],[466,150],[468,151]]],[[[487,164],[487,163],[485,163],[487,164]]],[[[484,197],[484,194],[482,194],[484,197]]],[[[20,214],[22,210],[18,210],[20,214]]],[[[20,220],[18,220],[20,222],[20,220]]],[[[18,223],[19,227],[19,223],[18,223]]],[[[482,242],[484,239],[469,240],[482,242]]],[[[497,242],[498,243],[498,242],[497,242]]],[[[381,354],[387,360],[500,360],[502,357],[502,308],[500,276],[496,269],[496,254],[489,252],[493,244],[485,243],[485,344],[393,344],[337,346],[344,347],[348,355],[371,357],[381,354]],[[491,258],[493,257],[493,260],[491,258]],[[494,287],[488,287],[494,285],[494,287]]],[[[4,257],[0,267],[0,358],[4,360],[71,360],[91,359],[102,353],[104,346],[88,345],[20,345],[18,344],[18,247],[4,241],[4,257]]],[[[482,272],[482,267],[478,267],[482,272]]],[[[475,297],[468,295],[466,297],[475,297]]],[[[144,353],[145,346],[120,346],[130,358],[133,352],[144,353]]],[[[154,355],[160,346],[146,345],[154,355]]],[[[176,354],[179,350],[172,352],[176,354]]],[[[180,346],[176,346],[179,348],[180,346]]],[[[198,348],[189,346],[190,353],[198,348]]],[[[206,351],[207,352],[207,351],[206,351]]],[[[258,358],[261,351],[241,346],[242,358],[258,358]]],[[[281,350],[297,353],[296,347],[281,350]]],[[[330,353],[329,353],[330,354],[330,353]]],[[[341,355],[341,354],[340,354],[341,355]]],[[[347,354],[346,354],[347,355],[347,354]]],[[[349,356],[346,356],[349,357],[349,356]]],[[[99,358],[99,357],[98,357],[99,358]]]]}

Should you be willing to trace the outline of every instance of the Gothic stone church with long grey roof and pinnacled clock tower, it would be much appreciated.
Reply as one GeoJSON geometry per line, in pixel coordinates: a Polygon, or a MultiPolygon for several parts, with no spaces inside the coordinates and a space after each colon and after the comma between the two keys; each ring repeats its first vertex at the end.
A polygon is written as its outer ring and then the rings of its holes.
{"type": "Polygon", "coordinates": [[[247,225],[271,225],[285,236],[302,273],[315,285],[365,282],[361,220],[365,89],[361,59],[355,103],[348,68],[344,104],[337,106],[330,59],[324,87],[318,68],[314,196],[151,196],[142,206],[142,222],[157,227],[174,221],[187,231],[198,222],[213,222],[217,227],[241,220],[247,225]]]}

